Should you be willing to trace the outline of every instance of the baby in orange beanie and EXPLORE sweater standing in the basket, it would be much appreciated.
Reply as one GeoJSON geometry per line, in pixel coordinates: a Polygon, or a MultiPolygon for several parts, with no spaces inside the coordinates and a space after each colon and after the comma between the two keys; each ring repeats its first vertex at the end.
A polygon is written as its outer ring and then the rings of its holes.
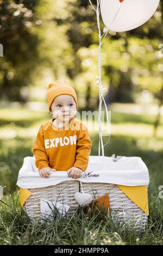
{"type": "Polygon", "coordinates": [[[48,108],[52,119],[40,126],[33,154],[40,176],[67,171],[72,178],[80,178],[87,168],[92,142],[82,121],[76,119],[77,95],[66,82],[49,84],[48,108]]]}

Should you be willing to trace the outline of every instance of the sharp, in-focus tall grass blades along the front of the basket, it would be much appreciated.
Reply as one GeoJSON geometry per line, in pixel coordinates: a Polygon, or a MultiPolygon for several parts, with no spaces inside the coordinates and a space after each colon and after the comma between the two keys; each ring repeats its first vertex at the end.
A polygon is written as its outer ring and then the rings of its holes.
{"type": "Polygon", "coordinates": [[[117,225],[109,215],[99,211],[86,216],[78,209],[70,219],[41,224],[30,222],[20,208],[18,193],[5,199],[1,205],[0,243],[2,245],[163,245],[162,209],[160,204],[150,206],[148,227],[142,236],[133,228],[117,225]]]}

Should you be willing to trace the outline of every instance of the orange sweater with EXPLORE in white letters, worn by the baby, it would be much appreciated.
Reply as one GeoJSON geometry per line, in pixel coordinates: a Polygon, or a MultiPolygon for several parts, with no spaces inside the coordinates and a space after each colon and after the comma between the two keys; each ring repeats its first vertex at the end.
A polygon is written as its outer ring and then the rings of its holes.
{"type": "Polygon", "coordinates": [[[73,118],[60,129],[51,119],[40,126],[33,144],[36,167],[66,171],[74,166],[85,171],[91,145],[89,132],[82,121],[73,118]]]}

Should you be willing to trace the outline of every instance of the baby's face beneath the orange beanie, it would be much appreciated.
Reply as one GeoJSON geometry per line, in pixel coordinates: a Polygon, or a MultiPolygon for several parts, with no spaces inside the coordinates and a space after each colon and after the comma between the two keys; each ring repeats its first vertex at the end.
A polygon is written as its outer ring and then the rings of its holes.
{"type": "Polygon", "coordinates": [[[57,121],[68,121],[76,115],[76,102],[71,95],[57,96],[51,106],[51,114],[57,121]]]}

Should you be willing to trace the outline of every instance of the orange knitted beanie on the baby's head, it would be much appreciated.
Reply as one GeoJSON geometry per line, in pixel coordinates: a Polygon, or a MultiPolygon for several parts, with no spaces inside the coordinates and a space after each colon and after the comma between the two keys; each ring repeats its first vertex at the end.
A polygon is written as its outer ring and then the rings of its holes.
{"type": "Polygon", "coordinates": [[[74,101],[76,102],[76,105],[78,107],[77,95],[75,90],[66,81],[56,80],[50,83],[48,87],[47,101],[49,110],[55,97],[62,94],[68,94],[73,96],[74,101]]]}

